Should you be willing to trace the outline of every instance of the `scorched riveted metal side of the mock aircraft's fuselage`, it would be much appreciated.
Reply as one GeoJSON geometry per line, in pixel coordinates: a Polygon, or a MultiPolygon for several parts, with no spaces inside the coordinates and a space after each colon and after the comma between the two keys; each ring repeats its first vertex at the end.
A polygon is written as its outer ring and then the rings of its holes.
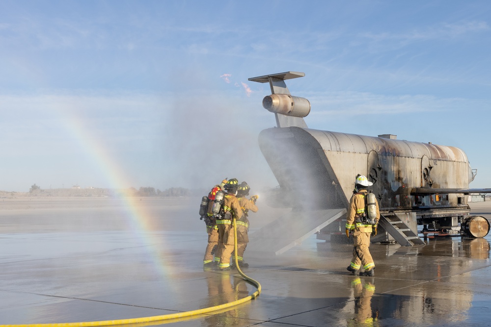
{"type": "MultiPolygon", "coordinates": [[[[373,182],[381,208],[412,208],[418,203],[411,197],[410,191],[413,185],[422,184],[423,161],[428,168],[428,181],[425,185],[439,185],[442,188],[468,187],[469,164],[465,153],[460,149],[363,135],[312,129],[307,131],[323,147],[347,199],[352,195],[354,176],[370,176],[372,173],[373,177],[378,178],[373,182]],[[378,160],[375,159],[374,152],[377,153],[378,160]],[[360,166],[363,163],[365,165],[360,166]]],[[[428,197],[421,204],[458,204],[457,196],[447,195],[446,198],[442,196],[439,201],[436,200],[428,197]],[[446,201],[442,201],[443,199],[446,201]]]]}

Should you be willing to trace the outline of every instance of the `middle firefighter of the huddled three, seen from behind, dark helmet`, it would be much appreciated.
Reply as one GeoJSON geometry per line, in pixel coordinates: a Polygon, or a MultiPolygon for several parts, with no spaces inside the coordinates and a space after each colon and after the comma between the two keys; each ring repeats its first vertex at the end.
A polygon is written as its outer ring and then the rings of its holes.
{"type": "Polygon", "coordinates": [[[227,194],[223,199],[224,215],[217,218],[218,226],[218,252],[220,261],[218,267],[220,270],[232,270],[230,267],[230,256],[234,251],[235,234],[232,226],[233,219],[242,217],[242,209],[239,200],[236,198],[239,190],[239,181],[237,178],[231,178],[225,184],[227,194]]]}

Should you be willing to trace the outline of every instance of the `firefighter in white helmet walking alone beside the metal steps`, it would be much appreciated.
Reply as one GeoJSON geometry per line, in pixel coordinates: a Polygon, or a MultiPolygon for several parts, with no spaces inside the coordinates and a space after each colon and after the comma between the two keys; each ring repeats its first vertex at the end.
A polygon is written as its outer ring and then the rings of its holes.
{"type": "Polygon", "coordinates": [[[368,195],[367,187],[373,185],[367,177],[358,176],[355,182],[356,193],[351,197],[348,213],[346,214],[346,236],[353,232],[353,259],[346,268],[349,272],[356,273],[360,264],[365,269],[360,276],[374,276],[375,263],[368,250],[370,246],[370,234],[377,235],[377,224],[380,219],[379,203],[375,200],[376,217],[374,221],[368,219],[365,212],[365,199],[368,195]]]}

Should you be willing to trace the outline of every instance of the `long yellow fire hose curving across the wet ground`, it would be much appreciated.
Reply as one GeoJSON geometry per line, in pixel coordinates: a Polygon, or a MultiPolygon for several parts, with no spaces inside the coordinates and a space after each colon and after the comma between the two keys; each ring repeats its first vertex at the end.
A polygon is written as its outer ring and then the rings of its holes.
{"type": "Polygon", "coordinates": [[[247,302],[249,300],[255,299],[256,297],[259,296],[259,294],[261,294],[261,284],[259,284],[259,282],[257,282],[256,280],[254,280],[250,277],[247,277],[239,267],[239,259],[237,258],[237,226],[235,223],[235,218],[233,221],[233,226],[234,226],[235,267],[237,267],[239,274],[241,274],[241,276],[244,277],[244,279],[246,279],[250,283],[254,284],[257,288],[256,292],[254,292],[252,295],[249,295],[246,298],[243,298],[243,299],[240,299],[240,300],[237,300],[234,302],[228,302],[228,303],[224,303],[224,304],[220,304],[220,305],[216,305],[216,306],[211,306],[209,308],[203,308],[203,309],[186,311],[186,312],[179,312],[179,313],[172,313],[172,314],[161,315],[161,316],[120,319],[120,320],[88,321],[88,322],[81,322],[81,323],[0,325],[0,327],[87,327],[87,326],[112,326],[112,325],[147,323],[147,322],[163,321],[163,320],[170,320],[170,319],[190,317],[190,316],[194,316],[194,315],[204,314],[204,313],[208,313],[208,312],[212,312],[212,311],[217,311],[217,310],[229,308],[231,306],[235,306],[235,305],[247,302]]]}

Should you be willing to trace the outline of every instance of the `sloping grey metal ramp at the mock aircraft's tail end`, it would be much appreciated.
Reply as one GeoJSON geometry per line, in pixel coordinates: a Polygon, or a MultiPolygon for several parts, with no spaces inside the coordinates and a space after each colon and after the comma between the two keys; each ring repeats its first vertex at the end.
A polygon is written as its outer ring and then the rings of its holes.
{"type": "Polygon", "coordinates": [[[346,214],[345,208],[290,211],[249,235],[247,251],[281,254],[346,214]]]}

